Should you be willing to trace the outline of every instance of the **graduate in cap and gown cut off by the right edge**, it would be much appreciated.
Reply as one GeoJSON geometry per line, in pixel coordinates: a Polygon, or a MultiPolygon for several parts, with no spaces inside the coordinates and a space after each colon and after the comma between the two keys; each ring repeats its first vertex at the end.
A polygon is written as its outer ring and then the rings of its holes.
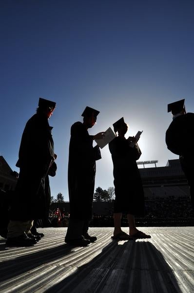
{"type": "Polygon", "coordinates": [[[173,121],[166,131],[166,145],[179,155],[194,207],[194,113],[186,113],[185,99],[168,104],[168,112],[172,112],[173,121]]]}

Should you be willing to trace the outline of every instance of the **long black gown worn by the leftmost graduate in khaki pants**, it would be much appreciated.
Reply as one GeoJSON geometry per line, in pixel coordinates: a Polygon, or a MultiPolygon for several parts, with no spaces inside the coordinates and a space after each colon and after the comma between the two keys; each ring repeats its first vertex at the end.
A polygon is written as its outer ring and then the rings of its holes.
{"type": "Polygon", "coordinates": [[[37,113],[24,128],[19,147],[20,168],[11,220],[41,219],[48,214],[50,188],[47,171],[54,156],[54,142],[48,119],[37,113]]]}

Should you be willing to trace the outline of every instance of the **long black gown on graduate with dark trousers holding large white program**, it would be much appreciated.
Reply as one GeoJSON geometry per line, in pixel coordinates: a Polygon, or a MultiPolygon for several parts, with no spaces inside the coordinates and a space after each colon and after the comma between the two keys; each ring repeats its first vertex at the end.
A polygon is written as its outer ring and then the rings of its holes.
{"type": "Polygon", "coordinates": [[[99,148],[93,147],[90,136],[81,122],[71,126],[69,145],[68,188],[70,218],[87,220],[92,217],[96,160],[99,148]]]}

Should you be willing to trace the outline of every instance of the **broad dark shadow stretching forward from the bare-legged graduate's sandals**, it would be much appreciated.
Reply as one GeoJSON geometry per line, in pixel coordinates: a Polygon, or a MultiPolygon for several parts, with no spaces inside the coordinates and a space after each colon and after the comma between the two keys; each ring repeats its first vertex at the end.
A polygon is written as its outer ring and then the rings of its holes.
{"type": "Polygon", "coordinates": [[[181,293],[162,253],[147,241],[110,243],[46,293],[181,293]]]}

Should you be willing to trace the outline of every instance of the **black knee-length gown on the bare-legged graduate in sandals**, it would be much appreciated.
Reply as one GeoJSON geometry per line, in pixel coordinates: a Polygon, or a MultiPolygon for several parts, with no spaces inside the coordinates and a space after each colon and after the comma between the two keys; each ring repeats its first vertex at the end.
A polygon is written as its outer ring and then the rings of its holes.
{"type": "Polygon", "coordinates": [[[118,136],[109,143],[109,150],[114,167],[114,212],[144,215],[144,192],[136,164],[136,147],[130,147],[125,138],[118,136]]]}

